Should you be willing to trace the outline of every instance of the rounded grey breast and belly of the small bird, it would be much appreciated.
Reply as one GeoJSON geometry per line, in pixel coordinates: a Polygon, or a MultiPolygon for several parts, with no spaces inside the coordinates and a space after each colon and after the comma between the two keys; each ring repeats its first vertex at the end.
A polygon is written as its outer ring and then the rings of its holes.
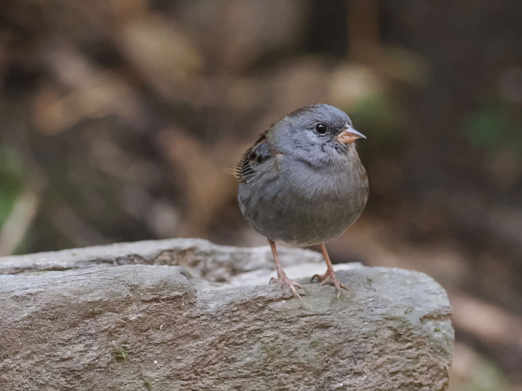
{"type": "Polygon", "coordinates": [[[367,179],[357,155],[312,165],[277,154],[267,163],[254,181],[240,185],[238,195],[244,216],[261,235],[300,246],[323,242],[364,209],[367,179]]]}

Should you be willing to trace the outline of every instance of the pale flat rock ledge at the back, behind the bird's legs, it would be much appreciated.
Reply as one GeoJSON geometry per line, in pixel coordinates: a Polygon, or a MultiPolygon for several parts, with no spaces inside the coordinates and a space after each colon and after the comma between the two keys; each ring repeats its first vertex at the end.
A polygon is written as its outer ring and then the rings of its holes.
{"type": "MultiPolygon", "coordinates": [[[[313,251],[284,247],[278,251],[283,267],[304,262],[323,262],[322,255],[313,251]]],[[[208,280],[224,280],[229,275],[274,268],[269,246],[229,247],[203,239],[180,238],[4,256],[0,257],[0,274],[127,264],[183,265],[198,277],[208,280]],[[226,275],[216,275],[220,269],[226,275]]]]}

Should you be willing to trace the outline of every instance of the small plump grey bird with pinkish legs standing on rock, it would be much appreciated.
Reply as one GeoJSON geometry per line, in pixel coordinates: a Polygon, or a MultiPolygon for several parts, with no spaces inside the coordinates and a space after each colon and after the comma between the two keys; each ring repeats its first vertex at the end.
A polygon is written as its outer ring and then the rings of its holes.
{"type": "Polygon", "coordinates": [[[236,167],[241,213],[268,239],[274,255],[277,278],[270,282],[287,285],[296,298],[301,299],[295,288],[305,288],[284,273],[277,240],[321,245],[327,271],[317,276],[319,282],[333,284],[337,298],[347,289],[337,280],[324,243],[352,225],[366,204],[368,178],[354,144],[365,138],[337,107],[304,106],[268,127],[236,167]]]}

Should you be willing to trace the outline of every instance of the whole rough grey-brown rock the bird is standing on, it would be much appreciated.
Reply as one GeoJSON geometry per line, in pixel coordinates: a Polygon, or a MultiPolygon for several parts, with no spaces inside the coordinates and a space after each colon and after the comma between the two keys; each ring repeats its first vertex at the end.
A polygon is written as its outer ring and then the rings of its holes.
{"type": "MultiPolygon", "coordinates": [[[[273,273],[267,250],[175,239],[0,259],[1,389],[447,389],[451,309],[433,279],[350,266],[339,300],[309,284],[301,306],[235,286],[273,273]]],[[[313,252],[282,254],[291,277],[324,272],[313,252]]]]}

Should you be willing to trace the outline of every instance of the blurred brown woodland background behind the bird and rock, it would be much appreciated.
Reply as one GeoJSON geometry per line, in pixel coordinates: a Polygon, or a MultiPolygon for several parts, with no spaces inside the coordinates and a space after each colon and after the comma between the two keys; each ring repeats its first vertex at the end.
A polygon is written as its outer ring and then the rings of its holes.
{"type": "Polygon", "coordinates": [[[452,391],[522,390],[522,2],[0,3],[0,255],[198,236],[264,245],[231,168],[293,109],[367,140],[335,262],[448,290],[452,391]]]}

